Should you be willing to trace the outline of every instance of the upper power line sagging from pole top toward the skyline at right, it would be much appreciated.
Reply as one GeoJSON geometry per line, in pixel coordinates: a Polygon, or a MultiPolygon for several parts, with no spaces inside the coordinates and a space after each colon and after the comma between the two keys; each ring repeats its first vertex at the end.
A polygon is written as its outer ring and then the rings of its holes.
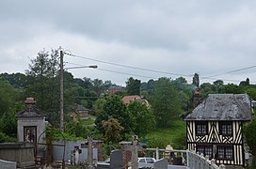
{"type": "Polygon", "coordinates": [[[68,53],[64,53],[73,57],[78,57],[78,58],[82,58],[82,59],[87,59],[87,60],[91,60],[91,61],[95,61],[95,62],[100,62],[100,63],[104,63],[104,64],[108,64],[108,65],[115,65],[118,67],[123,67],[123,68],[128,68],[128,69],[139,69],[139,70],[144,70],[144,71],[151,71],[151,72],[156,72],[156,73],[164,73],[164,74],[169,74],[169,75],[175,75],[175,76],[185,76],[185,77],[192,77],[193,74],[191,75],[187,75],[187,74],[180,74],[180,73],[172,73],[172,72],[167,72],[167,71],[160,71],[160,70],[155,70],[155,69],[143,69],[143,68],[137,68],[137,67],[132,67],[132,66],[127,66],[127,65],[122,65],[122,64],[118,64],[118,63],[113,63],[113,62],[107,62],[107,61],[103,61],[103,60],[98,60],[98,59],[93,59],[93,58],[89,58],[89,57],[85,57],[85,56],[81,56],[81,55],[76,55],[76,54],[68,54],[68,53]]]}

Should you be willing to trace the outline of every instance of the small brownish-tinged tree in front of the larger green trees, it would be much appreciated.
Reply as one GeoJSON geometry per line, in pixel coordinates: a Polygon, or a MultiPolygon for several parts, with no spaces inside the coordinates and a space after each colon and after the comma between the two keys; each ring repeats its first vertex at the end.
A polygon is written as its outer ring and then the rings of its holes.
{"type": "Polygon", "coordinates": [[[109,118],[107,121],[103,121],[104,139],[107,144],[112,142],[117,144],[121,139],[121,131],[123,127],[120,126],[119,120],[116,118],[109,118]]]}

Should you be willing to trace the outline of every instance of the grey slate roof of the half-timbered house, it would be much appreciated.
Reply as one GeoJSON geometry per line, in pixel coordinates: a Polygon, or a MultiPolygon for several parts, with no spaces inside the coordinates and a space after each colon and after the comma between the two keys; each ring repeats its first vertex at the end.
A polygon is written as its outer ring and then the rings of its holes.
{"type": "Polygon", "coordinates": [[[247,94],[209,94],[184,120],[251,120],[247,94]]]}

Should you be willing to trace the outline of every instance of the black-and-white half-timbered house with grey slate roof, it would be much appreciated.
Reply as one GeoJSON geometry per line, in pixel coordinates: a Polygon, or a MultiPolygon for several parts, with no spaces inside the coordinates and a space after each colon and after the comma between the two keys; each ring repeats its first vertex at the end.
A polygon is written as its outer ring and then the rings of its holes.
{"type": "Polygon", "coordinates": [[[245,166],[243,125],[252,116],[247,94],[210,94],[186,120],[187,148],[216,164],[245,166]]]}

